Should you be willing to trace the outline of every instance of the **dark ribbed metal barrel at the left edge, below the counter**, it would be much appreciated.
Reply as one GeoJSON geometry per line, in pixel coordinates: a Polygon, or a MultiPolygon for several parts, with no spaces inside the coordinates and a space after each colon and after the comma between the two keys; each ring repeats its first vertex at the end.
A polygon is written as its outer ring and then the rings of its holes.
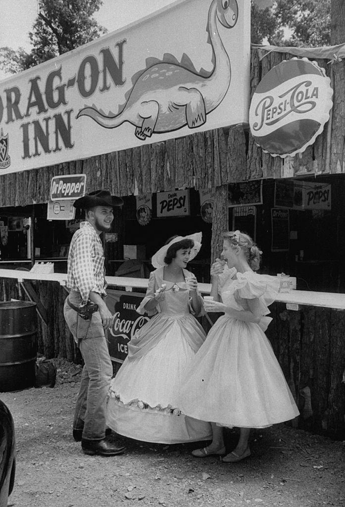
{"type": "Polygon", "coordinates": [[[0,303],[0,392],[35,383],[36,303],[0,303]]]}

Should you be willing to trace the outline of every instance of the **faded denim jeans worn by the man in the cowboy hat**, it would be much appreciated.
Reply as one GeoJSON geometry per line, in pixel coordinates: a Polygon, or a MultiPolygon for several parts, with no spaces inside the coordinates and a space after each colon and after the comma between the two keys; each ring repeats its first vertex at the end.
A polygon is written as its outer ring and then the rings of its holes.
{"type": "MultiPolygon", "coordinates": [[[[81,297],[72,291],[71,303],[79,306],[81,297]]],[[[112,365],[99,312],[91,320],[82,319],[65,301],[63,313],[68,328],[84,359],[82,380],[76,400],[73,429],[83,428],[83,439],[105,438],[105,410],[112,376],[112,365]]]]}

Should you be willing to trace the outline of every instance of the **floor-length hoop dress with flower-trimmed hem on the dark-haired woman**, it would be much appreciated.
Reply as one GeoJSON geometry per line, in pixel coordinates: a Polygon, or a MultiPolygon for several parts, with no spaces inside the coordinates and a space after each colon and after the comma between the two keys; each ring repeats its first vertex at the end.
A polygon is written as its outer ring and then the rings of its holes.
{"type": "MultiPolygon", "coordinates": [[[[117,433],[136,440],[176,444],[211,438],[208,422],[180,413],[178,391],[185,372],[206,335],[191,314],[189,291],[183,282],[163,280],[164,268],[150,274],[146,297],[137,312],[165,283],[165,299],[155,314],[128,344],[128,357],[111,381],[107,424],[117,433]]],[[[184,277],[191,276],[183,270],[184,277]]]]}

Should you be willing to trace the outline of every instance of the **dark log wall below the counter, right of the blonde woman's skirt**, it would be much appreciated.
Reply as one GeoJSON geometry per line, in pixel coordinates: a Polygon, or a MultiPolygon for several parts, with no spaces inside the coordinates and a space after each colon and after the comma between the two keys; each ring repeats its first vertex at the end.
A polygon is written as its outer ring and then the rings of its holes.
{"type": "Polygon", "coordinates": [[[345,439],[345,310],[271,307],[270,339],[300,411],[298,427],[345,439]]]}

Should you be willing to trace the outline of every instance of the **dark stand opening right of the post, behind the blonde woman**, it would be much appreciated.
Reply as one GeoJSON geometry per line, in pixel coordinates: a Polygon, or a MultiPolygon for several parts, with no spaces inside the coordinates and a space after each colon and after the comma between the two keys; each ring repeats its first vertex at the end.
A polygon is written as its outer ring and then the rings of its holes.
{"type": "Polygon", "coordinates": [[[256,238],[261,273],[294,276],[302,291],[345,292],[345,175],[262,180],[262,202],[229,206],[229,225],[256,238]]]}

